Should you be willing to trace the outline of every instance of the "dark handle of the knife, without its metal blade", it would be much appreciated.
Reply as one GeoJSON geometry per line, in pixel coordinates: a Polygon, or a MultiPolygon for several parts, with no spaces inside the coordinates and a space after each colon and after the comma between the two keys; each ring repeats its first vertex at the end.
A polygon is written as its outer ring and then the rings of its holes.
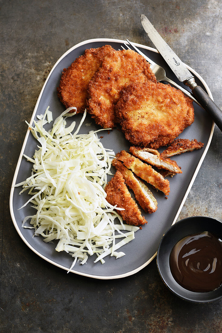
{"type": "Polygon", "coordinates": [[[194,87],[192,89],[192,93],[196,97],[196,100],[213,118],[214,123],[219,127],[222,132],[222,111],[200,86],[194,87]]]}

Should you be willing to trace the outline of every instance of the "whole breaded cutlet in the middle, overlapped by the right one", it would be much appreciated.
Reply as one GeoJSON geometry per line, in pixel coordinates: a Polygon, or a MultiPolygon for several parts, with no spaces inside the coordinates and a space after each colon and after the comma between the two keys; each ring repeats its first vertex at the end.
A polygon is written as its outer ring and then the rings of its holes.
{"type": "Polygon", "coordinates": [[[98,125],[113,128],[116,125],[115,105],[121,90],[130,83],[156,78],[149,63],[132,50],[111,52],[104,58],[88,88],[88,111],[98,125]]]}

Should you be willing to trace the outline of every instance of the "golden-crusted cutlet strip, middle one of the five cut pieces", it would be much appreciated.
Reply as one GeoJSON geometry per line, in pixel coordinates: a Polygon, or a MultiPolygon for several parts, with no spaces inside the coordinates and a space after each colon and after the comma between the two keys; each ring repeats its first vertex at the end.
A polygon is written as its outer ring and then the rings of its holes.
{"type": "Polygon", "coordinates": [[[165,195],[169,194],[169,180],[164,179],[163,176],[155,171],[150,165],[143,163],[124,150],[116,154],[115,157],[121,161],[124,166],[131,169],[138,177],[153,185],[155,188],[162,191],[165,195]]]}

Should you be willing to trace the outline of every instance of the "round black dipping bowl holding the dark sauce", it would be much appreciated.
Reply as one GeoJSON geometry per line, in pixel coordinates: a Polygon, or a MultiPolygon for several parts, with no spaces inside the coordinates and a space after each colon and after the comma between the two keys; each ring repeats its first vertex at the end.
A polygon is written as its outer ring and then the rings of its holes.
{"type": "Polygon", "coordinates": [[[169,256],[173,246],[182,238],[209,231],[212,234],[222,237],[222,222],[205,216],[187,217],[172,225],[162,237],[157,251],[157,266],[160,276],[165,285],[177,296],[193,303],[213,302],[222,297],[222,285],[216,290],[209,292],[193,292],[181,287],[173,278],[169,256]]]}

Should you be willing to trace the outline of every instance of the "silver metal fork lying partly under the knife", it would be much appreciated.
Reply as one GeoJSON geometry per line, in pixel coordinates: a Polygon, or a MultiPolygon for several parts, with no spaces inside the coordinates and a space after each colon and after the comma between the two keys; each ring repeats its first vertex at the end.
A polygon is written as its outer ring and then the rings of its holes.
{"type": "MultiPolygon", "coordinates": [[[[138,52],[141,56],[143,56],[146,61],[148,61],[148,63],[150,64],[150,68],[152,70],[152,72],[154,73],[156,80],[158,82],[160,81],[164,81],[167,82],[169,84],[171,84],[172,86],[176,87],[177,89],[181,90],[185,95],[187,95],[188,97],[190,97],[195,103],[197,103],[201,108],[202,106],[197,102],[197,100],[195,99],[195,97],[193,96],[193,94],[191,94],[189,91],[187,91],[186,89],[182,88],[181,86],[179,86],[176,82],[172,81],[171,79],[169,79],[166,76],[166,72],[164,70],[163,67],[157,65],[154,61],[152,61],[151,59],[149,59],[144,53],[142,53],[139,49],[137,49],[137,47],[135,45],[133,45],[133,43],[131,43],[128,39],[126,39],[126,41],[129,43],[129,45],[136,51],[138,52]]],[[[131,50],[131,48],[129,47],[128,44],[124,43],[125,47],[129,50],[131,50]]],[[[121,48],[123,50],[125,50],[125,48],[121,45],[121,48]]]]}

